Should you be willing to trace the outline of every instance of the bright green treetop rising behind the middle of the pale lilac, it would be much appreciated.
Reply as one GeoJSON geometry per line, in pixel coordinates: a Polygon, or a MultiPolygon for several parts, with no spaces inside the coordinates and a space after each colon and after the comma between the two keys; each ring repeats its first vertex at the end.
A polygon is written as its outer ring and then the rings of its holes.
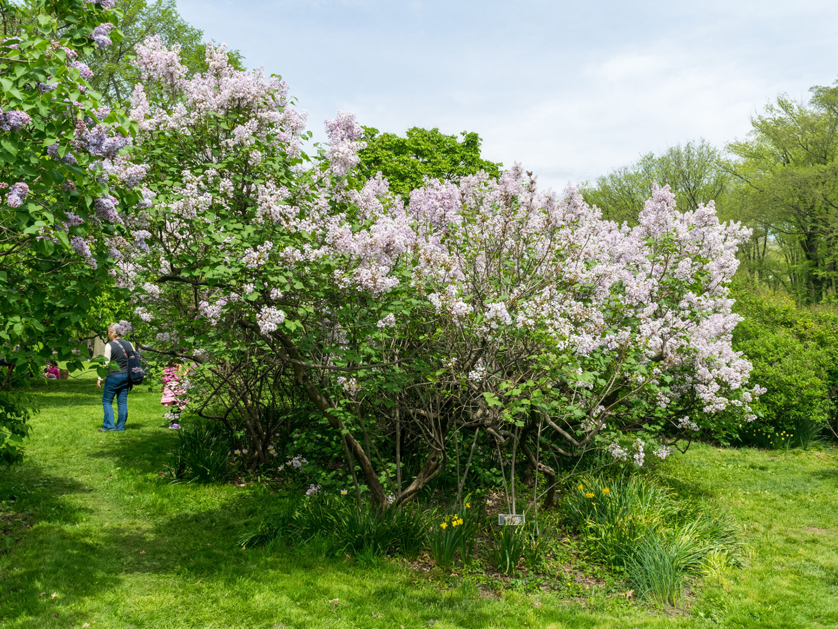
{"type": "Polygon", "coordinates": [[[411,127],[405,137],[379,133],[364,127],[367,148],[360,152],[360,174],[375,177],[379,171],[390,181],[390,189],[407,196],[422,186],[425,177],[459,179],[480,170],[497,176],[503,164],[482,159],[477,133],[446,135],[438,128],[411,127]]]}

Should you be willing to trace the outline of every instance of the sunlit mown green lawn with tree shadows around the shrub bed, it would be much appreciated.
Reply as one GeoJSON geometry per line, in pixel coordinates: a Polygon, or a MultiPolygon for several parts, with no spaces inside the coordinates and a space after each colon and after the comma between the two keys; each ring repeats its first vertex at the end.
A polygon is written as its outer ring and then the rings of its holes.
{"type": "Polygon", "coordinates": [[[0,477],[12,544],[0,554],[3,627],[838,626],[832,450],[698,445],[662,466],[677,491],[730,513],[746,564],[704,577],[666,611],[604,593],[487,591],[395,561],[366,569],[310,549],[242,551],[236,536],[272,496],[163,478],[175,434],[158,393],[135,390],[126,431],[98,433],[95,379],[37,391],[27,458],[0,477]]]}

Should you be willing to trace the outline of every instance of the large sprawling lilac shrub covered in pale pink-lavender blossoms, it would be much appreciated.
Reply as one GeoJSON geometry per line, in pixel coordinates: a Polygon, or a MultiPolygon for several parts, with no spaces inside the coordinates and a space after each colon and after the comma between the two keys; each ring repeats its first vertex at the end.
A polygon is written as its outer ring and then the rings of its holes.
{"type": "Polygon", "coordinates": [[[200,365],[194,412],[244,418],[256,463],[277,387],[339,431],[381,505],[442,473],[458,431],[525,455],[549,502],[548,454],[643,465],[694,424],[753,417],[727,292],[747,230],[712,205],[680,212],[656,189],[638,226],[618,225],[517,165],[403,199],[354,176],[354,115],[327,121],[308,160],[284,82],[234,70],[211,42],[206,60],[189,77],[176,46],[137,47],[138,149],[164,154],[148,179],[172,183],[121,281],[161,340],[150,349],[200,365]],[[402,487],[376,444],[404,430],[418,472],[402,487]]]}

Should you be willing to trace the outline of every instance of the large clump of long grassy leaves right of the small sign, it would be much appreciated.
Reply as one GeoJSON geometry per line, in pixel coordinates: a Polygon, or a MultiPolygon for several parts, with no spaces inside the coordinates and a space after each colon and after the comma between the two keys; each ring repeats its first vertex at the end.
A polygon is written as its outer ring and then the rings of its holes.
{"type": "Polygon", "coordinates": [[[708,556],[735,563],[739,548],[726,517],[643,476],[582,476],[567,492],[565,517],[594,558],[623,567],[638,595],[670,605],[708,556]]]}

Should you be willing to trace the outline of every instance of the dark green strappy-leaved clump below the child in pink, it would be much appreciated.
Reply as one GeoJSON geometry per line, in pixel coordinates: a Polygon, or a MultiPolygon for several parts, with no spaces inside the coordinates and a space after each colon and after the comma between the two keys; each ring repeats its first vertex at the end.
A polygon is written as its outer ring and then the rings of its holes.
{"type": "Polygon", "coordinates": [[[233,474],[230,436],[217,422],[198,422],[178,430],[171,475],[178,481],[226,481],[233,474]]]}

